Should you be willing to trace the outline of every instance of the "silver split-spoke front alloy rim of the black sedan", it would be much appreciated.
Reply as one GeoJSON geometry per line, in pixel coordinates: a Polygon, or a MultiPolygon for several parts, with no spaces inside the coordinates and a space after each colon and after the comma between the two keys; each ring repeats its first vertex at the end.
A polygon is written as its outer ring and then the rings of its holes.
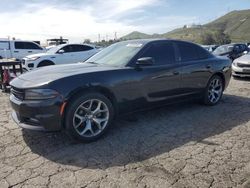
{"type": "Polygon", "coordinates": [[[100,134],[109,121],[109,109],[99,99],[90,99],[78,106],[73,116],[73,126],[82,137],[100,134]]]}

